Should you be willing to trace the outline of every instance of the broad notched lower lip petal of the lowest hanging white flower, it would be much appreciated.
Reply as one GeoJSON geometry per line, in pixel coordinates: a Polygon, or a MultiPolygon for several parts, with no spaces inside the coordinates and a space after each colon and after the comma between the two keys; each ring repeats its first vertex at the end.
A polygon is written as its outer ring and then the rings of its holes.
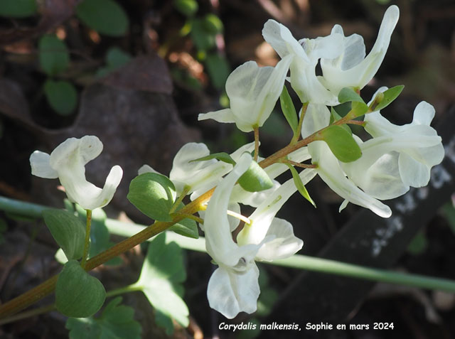
{"type": "Polygon", "coordinates": [[[258,278],[259,269],[255,264],[242,274],[218,267],[208,281],[207,298],[210,307],[229,319],[240,312],[255,312],[260,293],[258,278]]]}

